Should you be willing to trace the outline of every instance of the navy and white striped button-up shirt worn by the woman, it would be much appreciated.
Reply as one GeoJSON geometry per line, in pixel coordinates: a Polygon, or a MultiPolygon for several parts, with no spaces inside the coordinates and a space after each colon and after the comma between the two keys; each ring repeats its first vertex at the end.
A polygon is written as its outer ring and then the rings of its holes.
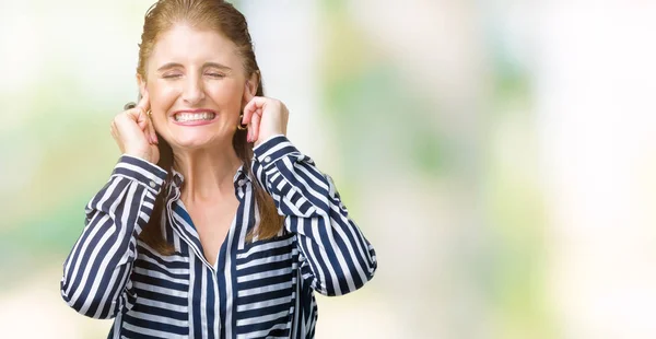
{"type": "Polygon", "coordinates": [[[75,311],[115,318],[108,338],[313,338],[314,291],[340,295],[372,279],[376,255],[349,218],[332,179],[286,137],[254,150],[253,174],[234,175],[236,215],[216,262],[208,262],[180,197],[184,182],[122,155],[85,208],[85,226],[63,264],[61,295],[75,311]],[[251,180],[284,215],[271,239],[246,241],[259,223],[251,180]],[[160,255],[138,238],[166,191],[160,255]]]}

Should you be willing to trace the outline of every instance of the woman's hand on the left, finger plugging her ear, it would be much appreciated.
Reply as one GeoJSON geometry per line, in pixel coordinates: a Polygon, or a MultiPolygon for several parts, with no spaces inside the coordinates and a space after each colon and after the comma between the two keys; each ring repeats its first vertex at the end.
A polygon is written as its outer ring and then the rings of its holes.
{"type": "Polygon", "coordinates": [[[114,117],[110,131],[124,154],[156,164],[160,161],[160,149],[157,149],[157,135],[153,122],[145,114],[149,107],[149,95],[145,92],[134,108],[114,117]]]}

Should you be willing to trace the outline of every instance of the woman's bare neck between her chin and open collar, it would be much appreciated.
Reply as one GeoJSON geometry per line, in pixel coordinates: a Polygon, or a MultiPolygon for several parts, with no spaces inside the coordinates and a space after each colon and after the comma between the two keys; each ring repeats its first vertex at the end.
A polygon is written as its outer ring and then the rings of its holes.
{"type": "Polygon", "coordinates": [[[233,178],[242,160],[227,143],[223,149],[174,150],[173,166],[185,177],[183,201],[195,203],[234,195],[233,178]]]}

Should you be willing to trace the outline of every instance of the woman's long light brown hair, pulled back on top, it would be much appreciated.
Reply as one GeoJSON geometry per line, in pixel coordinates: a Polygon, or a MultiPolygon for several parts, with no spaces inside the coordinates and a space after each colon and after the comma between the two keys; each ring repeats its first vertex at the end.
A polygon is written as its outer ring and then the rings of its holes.
{"type": "MultiPolygon", "coordinates": [[[[157,38],[176,24],[187,24],[198,30],[212,30],[232,40],[243,59],[247,78],[254,73],[258,75],[256,95],[262,96],[265,94],[246,19],[231,3],[222,0],[160,0],[148,10],[143,23],[143,33],[141,34],[141,44],[139,44],[139,63],[137,66],[137,72],[144,80],[147,79],[145,65],[157,38]]],[[[250,168],[254,144],[247,142],[246,137],[246,130],[236,129],[233,136],[233,148],[244,163],[246,173],[255,177],[250,168]]],[[[165,219],[161,215],[165,210],[165,197],[167,196],[167,189],[165,188],[173,180],[174,157],[171,145],[161,137],[157,140],[160,149],[157,165],[167,170],[168,175],[163,185],[164,189],[155,198],[153,214],[140,233],[139,238],[161,254],[171,255],[174,248],[172,244],[164,239],[162,222],[165,222],[165,219]]],[[[259,185],[258,180],[253,179],[251,183],[258,206],[259,226],[249,233],[247,241],[251,241],[254,237],[258,239],[272,238],[282,227],[282,217],[278,214],[273,199],[259,185]]]]}

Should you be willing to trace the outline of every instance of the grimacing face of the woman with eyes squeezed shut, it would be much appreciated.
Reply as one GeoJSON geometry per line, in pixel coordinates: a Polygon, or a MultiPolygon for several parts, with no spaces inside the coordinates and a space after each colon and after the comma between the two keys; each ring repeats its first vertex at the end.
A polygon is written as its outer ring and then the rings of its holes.
{"type": "Polygon", "coordinates": [[[236,46],[213,31],[175,25],[162,34],[147,62],[155,130],[172,148],[199,149],[227,142],[242,107],[255,94],[236,46]]]}

